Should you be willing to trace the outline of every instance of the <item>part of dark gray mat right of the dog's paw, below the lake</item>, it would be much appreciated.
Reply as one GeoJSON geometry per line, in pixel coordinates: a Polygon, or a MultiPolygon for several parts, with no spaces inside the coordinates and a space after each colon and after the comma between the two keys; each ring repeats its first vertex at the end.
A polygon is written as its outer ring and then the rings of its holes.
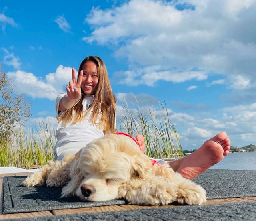
{"type": "Polygon", "coordinates": [[[207,199],[256,196],[256,171],[209,169],[194,180],[206,190],[207,199]]]}

